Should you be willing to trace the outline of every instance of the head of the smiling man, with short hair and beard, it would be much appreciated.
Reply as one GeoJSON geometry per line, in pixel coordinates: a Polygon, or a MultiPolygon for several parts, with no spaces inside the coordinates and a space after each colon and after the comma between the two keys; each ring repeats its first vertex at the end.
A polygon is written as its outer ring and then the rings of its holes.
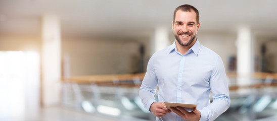
{"type": "Polygon", "coordinates": [[[182,5],[175,9],[172,30],[179,45],[190,48],[196,42],[199,27],[199,13],[196,8],[182,5]]]}

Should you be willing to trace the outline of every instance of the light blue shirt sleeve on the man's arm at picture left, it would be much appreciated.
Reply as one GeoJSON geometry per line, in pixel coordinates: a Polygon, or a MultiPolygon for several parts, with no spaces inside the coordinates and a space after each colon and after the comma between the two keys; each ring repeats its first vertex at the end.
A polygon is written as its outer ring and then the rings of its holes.
{"type": "Polygon", "coordinates": [[[154,55],[150,58],[147,66],[147,71],[139,91],[144,107],[150,111],[150,106],[156,102],[154,94],[157,90],[158,79],[153,68],[154,55]]]}

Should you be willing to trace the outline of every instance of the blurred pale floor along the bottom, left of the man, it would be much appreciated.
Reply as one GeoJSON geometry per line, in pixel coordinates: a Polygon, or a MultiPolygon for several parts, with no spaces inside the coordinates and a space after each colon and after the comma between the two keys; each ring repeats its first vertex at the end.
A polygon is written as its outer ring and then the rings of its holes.
{"type": "Polygon", "coordinates": [[[25,111],[23,114],[17,115],[0,115],[0,120],[5,121],[86,121],[86,120],[101,120],[101,121],[112,121],[112,120],[136,120],[133,117],[112,117],[101,114],[90,114],[84,111],[77,111],[64,107],[47,107],[41,108],[37,111],[25,111]]]}

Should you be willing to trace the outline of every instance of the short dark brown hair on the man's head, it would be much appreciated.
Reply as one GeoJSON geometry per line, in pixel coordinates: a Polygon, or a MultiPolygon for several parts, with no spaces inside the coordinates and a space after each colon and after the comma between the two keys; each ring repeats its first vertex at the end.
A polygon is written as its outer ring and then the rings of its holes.
{"type": "Polygon", "coordinates": [[[174,15],[173,15],[173,24],[175,22],[176,12],[178,10],[181,10],[183,12],[192,12],[192,10],[193,10],[196,13],[196,22],[197,22],[197,24],[199,23],[199,12],[198,12],[198,10],[195,7],[191,6],[191,5],[185,4],[185,5],[179,6],[175,9],[174,15]]]}

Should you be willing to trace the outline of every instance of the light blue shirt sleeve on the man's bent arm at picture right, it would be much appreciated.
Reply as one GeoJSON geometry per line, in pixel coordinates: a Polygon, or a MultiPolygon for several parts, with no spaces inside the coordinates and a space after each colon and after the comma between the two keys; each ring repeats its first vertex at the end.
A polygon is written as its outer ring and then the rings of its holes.
{"type": "Polygon", "coordinates": [[[230,97],[226,73],[221,58],[218,56],[215,68],[210,77],[210,88],[213,102],[200,109],[200,120],[214,120],[230,106],[230,97]]]}

